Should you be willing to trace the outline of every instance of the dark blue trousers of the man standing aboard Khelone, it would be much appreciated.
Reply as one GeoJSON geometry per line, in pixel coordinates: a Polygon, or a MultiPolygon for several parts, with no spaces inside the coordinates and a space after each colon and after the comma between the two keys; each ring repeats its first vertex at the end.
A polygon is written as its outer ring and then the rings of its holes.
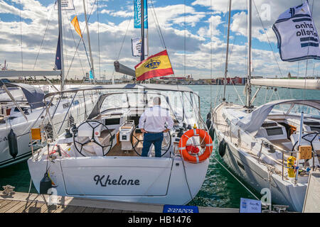
{"type": "Polygon", "coordinates": [[[161,157],[161,145],[164,140],[164,133],[144,133],[144,147],[142,148],[142,156],[146,157],[149,153],[151,144],[154,144],[156,157],[161,157]]]}

